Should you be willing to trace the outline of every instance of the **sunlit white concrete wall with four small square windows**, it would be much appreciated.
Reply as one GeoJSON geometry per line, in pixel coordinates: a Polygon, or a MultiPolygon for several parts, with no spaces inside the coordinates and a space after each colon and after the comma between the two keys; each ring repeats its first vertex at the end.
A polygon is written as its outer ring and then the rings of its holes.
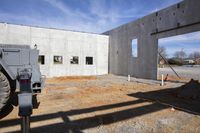
{"type": "Polygon", "coordinates": [[[0,23],[0,43],[37,44],[45,65],[43,75],[103,75],[108,74],[108,36],[0,23]],[[53,56],[62,56],[63,64],[54,64],[53,56]],[[70,57],[78,56],[79,64],[70,64],[70,57]],[[85,64],[85,57],[93,57],[93,65],[85,64]]]}

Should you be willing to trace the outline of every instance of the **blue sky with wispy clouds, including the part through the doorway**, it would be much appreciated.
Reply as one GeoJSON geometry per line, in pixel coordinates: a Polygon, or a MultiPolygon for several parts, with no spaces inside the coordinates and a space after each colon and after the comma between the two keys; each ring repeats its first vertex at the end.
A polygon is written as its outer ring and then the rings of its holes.
{"type": "MultiPolygon", "coordinates": [[[[0,22],[102,33],[180,1],[0,0],[0,22]]],[[[189,52],[191,52],[197,46],[196,50],[200,50],[200,46],[194,45],[191,42],[193,39],[188,42],[187,37],[160,40],[160,44],[165,43],[169,53],[175,49],[173,45],[175,42],[176,49],[182,49],[182,46],[186,49],[190,46],[189,52]],[[181,46],[179,43],[177,44],[177,39],[182,43],[181,46]],[[186,46],[187,43],[190,45],[186,46]]],[[[189,37],[193,37],[193,35],[189,35],[189,37]]],[[[195,37],[198,39],[199,34],[195,34],[195,37]]],[[[199,43],[199,41],[197,42],[199,43]]]]}

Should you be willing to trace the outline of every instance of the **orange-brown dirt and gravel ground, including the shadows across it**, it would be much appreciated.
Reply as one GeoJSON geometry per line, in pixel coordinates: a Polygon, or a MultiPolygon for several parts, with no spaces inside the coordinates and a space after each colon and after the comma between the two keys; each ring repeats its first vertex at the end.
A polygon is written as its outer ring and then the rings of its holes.
{"type": "MultiPolygon", "coordinates": [[[[198,133],[200,100],[177,97],[183,85],[161,87],[113,75],[47,79],[34,102],[31,132],[198,133]]],[[[0,120],[0,133],[20,132],[18,108],[9,112],[0,120]]]]}

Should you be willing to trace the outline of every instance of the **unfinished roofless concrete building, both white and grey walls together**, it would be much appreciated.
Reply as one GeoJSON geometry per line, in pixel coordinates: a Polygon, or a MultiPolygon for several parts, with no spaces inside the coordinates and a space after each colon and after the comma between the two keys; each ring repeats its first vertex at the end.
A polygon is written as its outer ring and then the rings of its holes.
{"type": "Polygon", "coordinates": [[[198,0],[184,0],[101,35],[1,23],[0,43],[36,44],[41,71],[49,77],[111,73],[157,79],[158,40],[200,31],[199,7],[198,0]]]}

